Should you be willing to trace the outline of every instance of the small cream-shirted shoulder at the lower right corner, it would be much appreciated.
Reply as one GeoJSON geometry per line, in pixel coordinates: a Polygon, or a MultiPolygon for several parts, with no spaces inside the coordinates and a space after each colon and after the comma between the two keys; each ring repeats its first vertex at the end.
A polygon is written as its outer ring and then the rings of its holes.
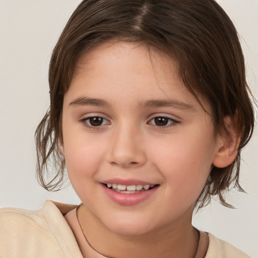
{"type": "Polygon", "coordinates": [[[213,234],[208,233],[208,236],[209,247],[205,258],[250,258],[232,244],[215,237],[213,234]]]}

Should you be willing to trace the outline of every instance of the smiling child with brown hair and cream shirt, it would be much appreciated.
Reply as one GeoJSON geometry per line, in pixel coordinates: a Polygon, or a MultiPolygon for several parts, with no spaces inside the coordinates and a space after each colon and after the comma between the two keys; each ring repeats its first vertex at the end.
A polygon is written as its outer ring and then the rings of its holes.
{"type": "Polygon", "coordinates": [[[3,209],[0,257],[248,257],[191,225],[239,185],[253,110],[236,30],[212,0],[83,1],[49,66],[38,178],[78,207],[3,209]],[[48,164],[56,176],[47,181],[48,164]]]}

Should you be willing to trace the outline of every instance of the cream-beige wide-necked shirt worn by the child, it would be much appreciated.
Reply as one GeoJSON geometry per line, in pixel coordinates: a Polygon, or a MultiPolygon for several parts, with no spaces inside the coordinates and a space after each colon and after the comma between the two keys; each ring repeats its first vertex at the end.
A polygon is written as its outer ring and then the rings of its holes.
{"type": "MultiPolygon", "coordinates": [[[[75,207],[48,200],[37,211],[0,209],[0,258],[83,258],[63,217],[75,207]]],[[[210,233],[208,236],[205,258],[249,257],[226,241],[210,233]]]]}

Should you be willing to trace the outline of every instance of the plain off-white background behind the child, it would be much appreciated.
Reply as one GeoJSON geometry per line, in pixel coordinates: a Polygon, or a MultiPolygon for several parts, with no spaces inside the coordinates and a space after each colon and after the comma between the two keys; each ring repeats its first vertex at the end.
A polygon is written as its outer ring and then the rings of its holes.
{"type": "MultiPolygon", "coordinates": [[[[46,199],[79,204],[71,186],[47,192],[35,179],[34,131],[49,106],[51,51],[79,0],[0,0],[0,207],[39,209],[46,199]]],[[[257,98],[258,0],[218,1],[233,20],[246,58],[248,83],[257,98]]],[[[258,257],[257,130],[242,152],[241,185],[228,200],[213,201],[193,225],[258,257]]]]}

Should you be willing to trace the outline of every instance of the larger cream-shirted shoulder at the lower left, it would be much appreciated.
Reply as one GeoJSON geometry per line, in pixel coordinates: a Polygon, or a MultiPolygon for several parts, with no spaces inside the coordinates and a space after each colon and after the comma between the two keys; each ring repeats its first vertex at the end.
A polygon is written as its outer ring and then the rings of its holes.
{"type": "Polygon", "coordinates": [[[53,202],[46,201],[37,211],[0,209],[0,257],[67,257],[67,252],[77,248],[69,225],[53,202]]]}

